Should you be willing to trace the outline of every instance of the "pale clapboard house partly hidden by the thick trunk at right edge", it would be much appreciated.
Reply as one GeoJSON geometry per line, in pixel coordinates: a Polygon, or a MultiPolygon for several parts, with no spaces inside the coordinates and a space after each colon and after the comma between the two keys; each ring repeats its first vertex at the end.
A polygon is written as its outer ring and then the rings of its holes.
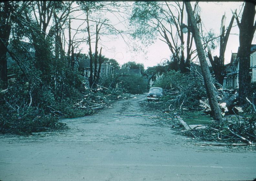
{"type": "MultiPolygon", "coordinates": [[[[239,86],[239,60],[237,53],[232,53],[230,63],[225,65],[226,76],[223,81],[223,88],[234,89],[239,86]]],[[[256,82],[256,45],[251,45],[250,82],[256,82]]]]}

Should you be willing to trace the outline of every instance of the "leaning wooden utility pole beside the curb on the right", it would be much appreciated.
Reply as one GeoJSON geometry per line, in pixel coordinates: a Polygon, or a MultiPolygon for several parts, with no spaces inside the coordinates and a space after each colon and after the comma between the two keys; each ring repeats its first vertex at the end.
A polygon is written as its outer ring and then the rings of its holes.
{"type": "Polygon", "coordinates": [[[197,28],[197,22],[196,22],[194,14],[193,14],[190,2],[184,0],[184,3],[186,5],[187,16],[188,16],[188,18],[190,20],[190,23],[191,23],[191,29],[192,29],[194,39],[195,39],[195,43],[196,43],[196,47],[197,47],[197,55],[198,55],[198,59],[199,59],[199,62],[200,62],[200,67],[201,67],[201,70],[202,70],[202,73],[203,73],[203,77],[204,77],[204,83],[205,83],[205,87],[206,87],[206,91],[207,91],[207,95],[208,95],[208,99],[209,99],[209,104],[210,104],[210,107],[211,107],[211,112],[212,112],[213,118],[216,121],[221,122],[222,121],[222,116],[221,116],[221,113],[220,113],[216,93],[214,91],[214,87],[213,87],[213,83],[212,83],[212,79],[211,79],[211,74],[210,74],[210,70],[208,68],[208,64],[207,64],[207,61],[206,61],[206,57],[205,57],[204,49],[203,49],[203,46],[202,46],[199,30],[197,28]]]}

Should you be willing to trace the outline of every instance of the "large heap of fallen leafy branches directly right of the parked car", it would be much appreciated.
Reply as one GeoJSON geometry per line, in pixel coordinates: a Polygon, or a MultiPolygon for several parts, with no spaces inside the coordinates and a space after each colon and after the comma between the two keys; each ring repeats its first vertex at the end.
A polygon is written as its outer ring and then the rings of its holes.
{"type": "Polygon", "coordinates": [[[156,81],[155,87],[164,89],[164,96],[157,103],[162,111],[198,110],[199,100],[207,97],[204,79],[196,69],[187,74],[167,72],[156,81]]]}

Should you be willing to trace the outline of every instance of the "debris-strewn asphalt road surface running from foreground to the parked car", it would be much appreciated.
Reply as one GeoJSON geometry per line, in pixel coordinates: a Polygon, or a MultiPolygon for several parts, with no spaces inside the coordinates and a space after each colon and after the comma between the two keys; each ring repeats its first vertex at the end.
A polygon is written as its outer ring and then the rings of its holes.
{"type": "Polygon", "coordinates": [[[69,130],[0,135],[2,181],[252,180],[255,149],[196,146],[140,109],[145,98],[65,119],[69,130]]]}

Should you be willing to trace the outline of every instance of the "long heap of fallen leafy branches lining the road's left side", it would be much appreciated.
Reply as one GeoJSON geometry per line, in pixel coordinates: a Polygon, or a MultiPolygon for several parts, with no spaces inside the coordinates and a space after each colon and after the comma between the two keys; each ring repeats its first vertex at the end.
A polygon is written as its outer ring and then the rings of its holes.
{"type": "Polygon", "coordinates": [[[70,96],[66,94],[57,98],[50,91],[34,89],[35,86],[26,82],[23,86],[13,84],[5,90],[0,89],[0,133],[31,134],[66,129],[66,124],[59,122],[59,117],[82,117],[94,110],[111,107],[112,100],[130,98],[118,88],[102,86],[80,89],[80,92],[65,91],[70,96]]]}

